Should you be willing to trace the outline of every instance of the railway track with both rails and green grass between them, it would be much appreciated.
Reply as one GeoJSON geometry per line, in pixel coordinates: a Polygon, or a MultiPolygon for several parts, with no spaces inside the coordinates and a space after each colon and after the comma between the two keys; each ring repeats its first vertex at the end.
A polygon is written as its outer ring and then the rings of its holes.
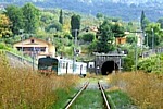
{"type": "Polygon", "coordinates": [[[65,106],[65,109],[111,109],[102,84],[86,82],[65,106]]]}

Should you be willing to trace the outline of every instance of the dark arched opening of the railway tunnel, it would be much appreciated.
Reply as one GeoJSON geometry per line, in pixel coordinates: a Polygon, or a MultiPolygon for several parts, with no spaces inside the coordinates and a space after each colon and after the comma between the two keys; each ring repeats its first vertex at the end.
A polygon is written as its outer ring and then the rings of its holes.
{"type": "Polygon", "coordinates": [[[105,61],[102,64],[101,73],[102,73],[102,75],[108,75],[108,74],[111,74],[114,70],[115,71],[118,70],[117,63],[114,61],[105,61]]]}

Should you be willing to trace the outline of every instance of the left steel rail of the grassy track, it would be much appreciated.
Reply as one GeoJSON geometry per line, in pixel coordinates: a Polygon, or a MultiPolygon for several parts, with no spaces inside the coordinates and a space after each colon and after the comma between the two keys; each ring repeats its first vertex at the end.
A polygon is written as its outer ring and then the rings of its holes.
{"type": "Polygon", "coordinates": [[[68,109],[72,104],[76,100],[76,98],[80,95],[80,93],[87,88],[89,82],[86,82],[86,84],[82,87],[82,89],[74,96],[74,98],[66,105],[65,109],[68,109]]]}

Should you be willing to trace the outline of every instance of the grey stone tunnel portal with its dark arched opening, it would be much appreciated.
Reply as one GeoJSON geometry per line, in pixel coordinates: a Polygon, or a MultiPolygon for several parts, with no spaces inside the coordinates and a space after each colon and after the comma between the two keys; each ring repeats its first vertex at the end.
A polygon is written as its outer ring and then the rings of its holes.
{"type": "Polygon", "coordinates": [[[96,74],[108,75],[115,71],[121,71],[122,69],[122,57],[124,53],[110,52],[110,53],[95,53],[95,66],[96,74]]]}

